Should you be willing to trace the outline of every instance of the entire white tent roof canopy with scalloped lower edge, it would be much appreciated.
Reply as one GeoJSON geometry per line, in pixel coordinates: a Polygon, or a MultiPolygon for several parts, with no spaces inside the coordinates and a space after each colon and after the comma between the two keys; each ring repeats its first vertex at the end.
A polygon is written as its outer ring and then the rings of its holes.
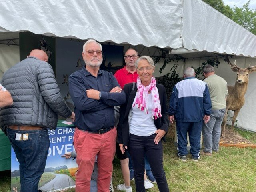
{"type": "Polygon", "coordinates": [[[0,0],[0,7],[0,32],[256,56],[256,36],[201,0],[0,0]]]}

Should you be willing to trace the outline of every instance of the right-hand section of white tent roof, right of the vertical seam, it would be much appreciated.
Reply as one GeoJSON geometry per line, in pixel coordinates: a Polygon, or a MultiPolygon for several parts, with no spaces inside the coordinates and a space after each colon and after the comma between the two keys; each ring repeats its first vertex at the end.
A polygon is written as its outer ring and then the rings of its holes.
{"type": "Polygon", "coordinates": [[[188,50],[255,57],[256,36],[201,0],[184,0],[182,38],[188,50]]]}

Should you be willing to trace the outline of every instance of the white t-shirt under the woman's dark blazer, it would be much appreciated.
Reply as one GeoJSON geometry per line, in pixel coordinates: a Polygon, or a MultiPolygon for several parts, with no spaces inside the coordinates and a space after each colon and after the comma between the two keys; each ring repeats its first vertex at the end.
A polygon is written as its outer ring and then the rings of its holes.
{"type": "MultiPolygon", "coordinates": [[[[152,97],[148,94],[148,114],[145,111],[141,111],[137,104],[132,107],[132,118],[130,120],[130,133],[138,136],[150,136],[154,134],[157,130],[154,119],[152,116],[152,97]]],[[[135,103],[135,98],[132,106],[135,103]]]]}

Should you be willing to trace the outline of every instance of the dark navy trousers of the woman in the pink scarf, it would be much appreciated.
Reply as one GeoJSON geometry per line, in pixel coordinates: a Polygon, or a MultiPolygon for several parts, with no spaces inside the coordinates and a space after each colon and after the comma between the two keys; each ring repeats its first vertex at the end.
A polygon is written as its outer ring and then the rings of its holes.
{"type": "Polygon", "coordinates": [[[159,192],[169,192],[164,166],[163,166],[163,146],[162,141],[157,145],[154,143],[156,134],[148,137],[130,134],[128,151],[132,158],[136,192],[145,192],[144,169],[145,154],[151,167],[154,178],[156,179],[159,192]]]}

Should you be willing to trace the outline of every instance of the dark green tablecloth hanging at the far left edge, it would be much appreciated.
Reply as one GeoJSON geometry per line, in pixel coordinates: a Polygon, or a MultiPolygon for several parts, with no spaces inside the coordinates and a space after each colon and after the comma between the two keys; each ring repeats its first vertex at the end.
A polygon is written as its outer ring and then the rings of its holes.
{"type": "Polygon", "coordinates": [[[11,169],[11,144],[8,137],[0,129],[0,171],[11,169]]]}

